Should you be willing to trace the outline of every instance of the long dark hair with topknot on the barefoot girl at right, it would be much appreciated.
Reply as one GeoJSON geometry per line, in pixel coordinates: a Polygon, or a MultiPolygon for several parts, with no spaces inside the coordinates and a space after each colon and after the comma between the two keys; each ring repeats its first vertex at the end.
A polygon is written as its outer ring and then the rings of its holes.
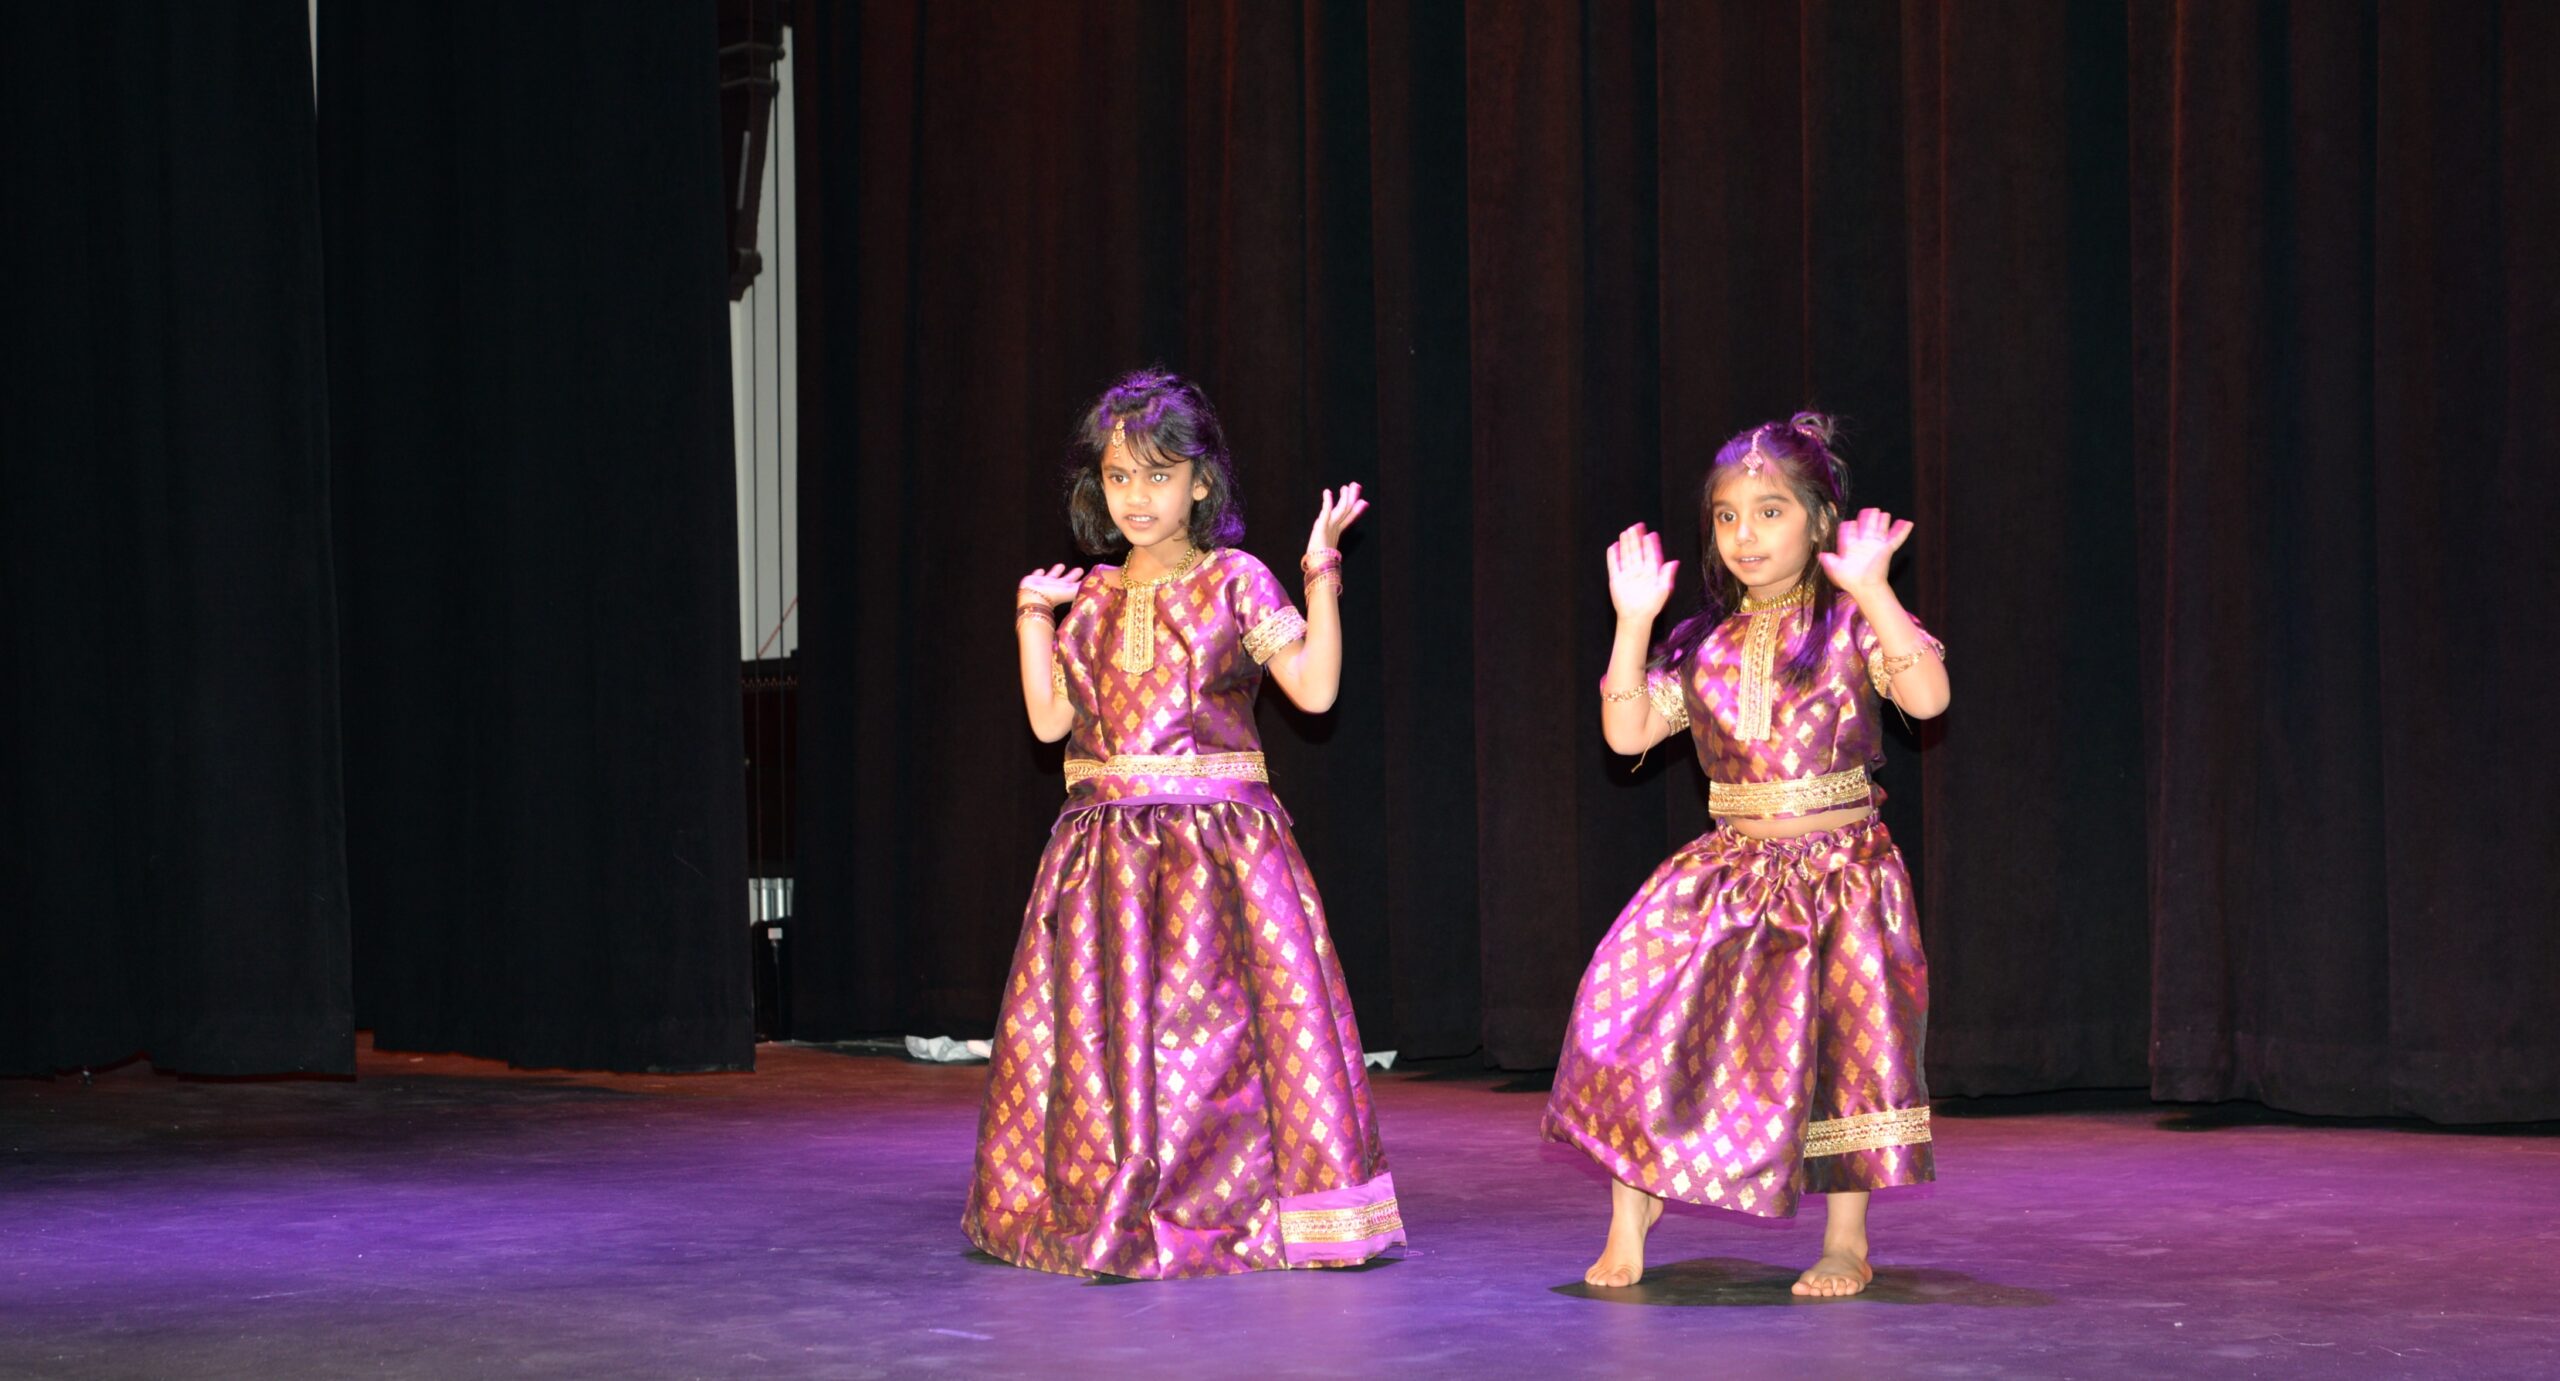
{"type": "MultiPolygon", "coordinates": [[[[1841,512],[1848,510],[1848,466],[1833,454],[1830,443],[1841,436],[1841,425],[1823,413],[1797,413],[1784,423],[1761,423],[1751,430],[1733,433],[1723,448],[1715,451],[1715,464],[1708,466],[1708,482],[1697,492],[1697,571],[1705,576],[1705,594],[1697,600],[1697,612],[1679,620],[1672,635],[1654,646],[1654,656],[1646,666],[1679,671],[1697,646],[1708,641],[1708,633],[1718,623],[1728,620],[1733,610],[1743,602],[1743,582],[1733,579],[1723,556],[1715,553],[1715,487],[1731,479],[1743,461],[1761,456],[1761,461],[1774,464],[1787,487],[1795,489],[1797,502],[1805,505],[1805,518],[1812,523],[1812,551],[1820,553],[1830,533],[1841,525],[1841,512]]],[[[1779,669],[1779,679],[1789,687],[1810,687],[1823,671],[1823,658],[1830,656],[1833,620],[1838,617],[1838,594],[1830,584],[1830,574],[1823,571],[1823,561],[1815,556],[1805,561],[1805,589],[1812,589],[1812,638],[1787,658],[1779,669]]]]}

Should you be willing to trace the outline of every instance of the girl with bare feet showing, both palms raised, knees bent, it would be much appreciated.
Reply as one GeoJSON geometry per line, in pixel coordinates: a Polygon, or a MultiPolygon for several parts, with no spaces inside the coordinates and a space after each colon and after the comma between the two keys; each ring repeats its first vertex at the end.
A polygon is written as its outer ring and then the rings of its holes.
{"type": "Polygon", "coordinates": [[[1928,961],[1869,774],[1879,697],[1943,712],[1946,651],[1884,582],[1912,525],[1846,518],[1830,441],[1828,418],[1800,413],[1715,454],[1705,600],[1661,646],[1679,561],[1641,523],[1608,551],[1603,738],[1641,753],[1687,730],[1718,825],[1600,940],[1546,1102],[1546,1135],[1613,1176],[1595,1286],[1644,1279],[1664,1197],[1789,1217],[1815,1191],[1823,1255],[1795,1294],[1859,1294],[1869,1191],[1935,1176],[1928,961]]]}

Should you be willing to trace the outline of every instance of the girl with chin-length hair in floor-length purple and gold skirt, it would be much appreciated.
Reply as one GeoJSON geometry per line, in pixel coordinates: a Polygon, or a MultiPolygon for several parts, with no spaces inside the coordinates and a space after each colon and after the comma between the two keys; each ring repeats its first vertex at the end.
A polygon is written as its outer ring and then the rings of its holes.
{"type": "Polygon", "coordinates": [[[1129,374],[1085,415],[1068,515],[1121,566],[1032,571],[1014,610],[1068,802],[978,1120],[963,1230],[986,1253],[1167,1279],[1405,1240],[1352,997],[1254,730],[1265,676],[1334,705],[1339,543],[1367,507],[1359,484],[1324,494],[1300,615],[1234,546],[1234,461],[1198,387],[1129,374]]]}

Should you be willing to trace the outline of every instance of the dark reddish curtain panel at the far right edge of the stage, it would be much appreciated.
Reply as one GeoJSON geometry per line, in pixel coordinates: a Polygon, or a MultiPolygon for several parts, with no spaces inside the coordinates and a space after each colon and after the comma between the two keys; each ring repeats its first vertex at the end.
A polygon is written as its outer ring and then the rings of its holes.
{"type": "Polygon", "coordinates": [[[2132,15],[2153,1089],[2560,1115],[2550,5],[2132,15]]]}

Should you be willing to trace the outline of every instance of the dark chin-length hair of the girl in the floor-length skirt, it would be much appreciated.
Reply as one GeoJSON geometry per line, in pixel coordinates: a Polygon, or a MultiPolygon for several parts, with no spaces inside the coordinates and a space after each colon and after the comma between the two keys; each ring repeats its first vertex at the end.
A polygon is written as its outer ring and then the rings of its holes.
{"type": "Polygon", "coordinates": [[[1190,543],[1201,548],[1244,541],[1244,497],[1236,492],[1236,461],[1226,454],[1226,430],[1201,384],[1170,369],[1121,374],[1085,407],[1085,420],[1068,446],[1068,523],[1075,546],[1091,556],[1119,556],[1129,538],[1111,520],[1103,497],[1103,451],[1111,430],[1126,428],[1129,454],[1142,461],[1190,461],[1190,479],[1208,484],[1208,497],[1190,502],[1190,543]]]}

